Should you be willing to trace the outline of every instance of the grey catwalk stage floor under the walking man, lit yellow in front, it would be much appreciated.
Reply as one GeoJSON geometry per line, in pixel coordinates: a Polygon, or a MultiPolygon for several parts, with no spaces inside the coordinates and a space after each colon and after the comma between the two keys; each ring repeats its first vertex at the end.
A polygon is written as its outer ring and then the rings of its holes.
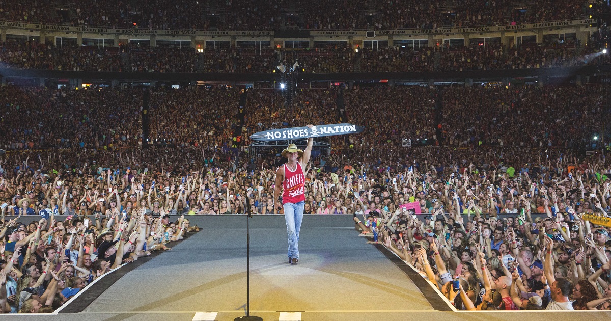
{"type": "MultiPolygon", "coordinates": [[[[171,251],[125,265],[55,315],[28,315],[28,320],[191,321],[245,315],[246,216],[189,219],[202,230],[172,245],[171,251]]],[[[455,312],[411,267],[358,235],[351,215],[306,215],[299,264],[291,266],[284,216],[254,216],[251,314],[264,320],[523,321],[611,316],[597,311],[455,312]]]]}

